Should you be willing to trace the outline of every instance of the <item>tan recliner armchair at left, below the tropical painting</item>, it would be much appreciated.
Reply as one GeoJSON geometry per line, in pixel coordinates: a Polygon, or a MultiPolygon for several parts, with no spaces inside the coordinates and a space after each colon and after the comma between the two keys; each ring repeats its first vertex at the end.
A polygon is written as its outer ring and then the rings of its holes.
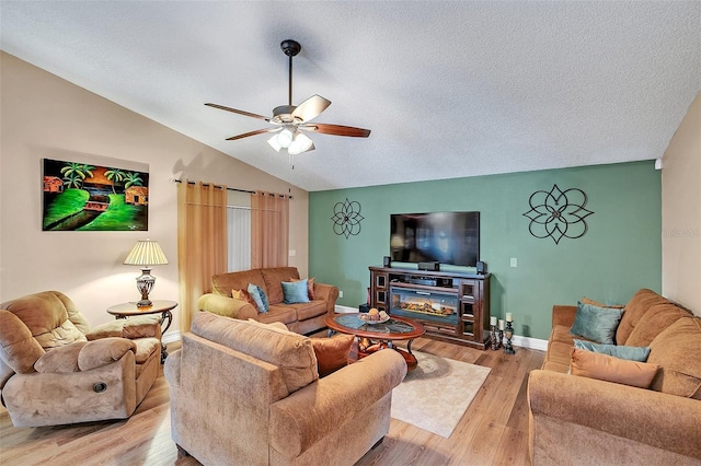
{"type": "Polygon", "coordinates": [[[91,331],[58,291],[0,304],[0,396],[15,427],[128,418],[158,375],[160,352],[158,316],[91,331]]]}

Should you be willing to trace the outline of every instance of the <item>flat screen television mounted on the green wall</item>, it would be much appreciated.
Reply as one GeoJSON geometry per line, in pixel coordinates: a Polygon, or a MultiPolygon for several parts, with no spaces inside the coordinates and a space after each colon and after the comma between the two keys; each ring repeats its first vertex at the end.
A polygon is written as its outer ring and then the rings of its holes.
{"type": "Polygon", "coordinates": [[[480,212],[392,213],[393,261],[437,261],[475,267],[480,260],[480,212]]]}

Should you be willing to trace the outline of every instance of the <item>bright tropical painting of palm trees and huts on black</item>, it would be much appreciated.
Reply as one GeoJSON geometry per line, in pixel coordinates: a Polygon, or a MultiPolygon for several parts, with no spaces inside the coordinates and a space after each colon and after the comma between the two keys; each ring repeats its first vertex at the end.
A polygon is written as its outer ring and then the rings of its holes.
{"type": "Polygon", "coordinates": [[[143,231],[149,174],[44,159],[44,231],[143,231]]]}

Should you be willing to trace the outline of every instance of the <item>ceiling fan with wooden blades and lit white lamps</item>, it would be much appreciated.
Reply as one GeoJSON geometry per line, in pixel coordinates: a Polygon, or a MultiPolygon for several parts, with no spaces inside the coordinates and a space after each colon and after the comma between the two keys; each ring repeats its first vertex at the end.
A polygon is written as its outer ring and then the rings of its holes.
{"type": "MultiPolygon", "coordinates": [[[[323,135],[348,136],[353,138],[367,138],[370,136],[369,129],[355,128],[352,126],[330,125],[325,123],[311,123],[323,110],[331,105],[331,101],[321,95],[312,95],[301,104],[292,105],[292,57],[295,57],[302,47],[298,42],[292,39],[283,40],[280,48],[289,57],[289,100],[287,105],[280,105],[273,109],[273,116],[252,114],[250,112],[237,108],[225,107],[223,105],[207,103],[205,105],[219,108],[234,114],[257,118],[273,125],[272,128],[256,129],[255,131],[244,132],[242,135],[227,138],[228,141],[248,138],[249,136],[262,135],[264,132],[275,132],[267,140],[273,149],[279,152],[280,149],[287,149],[291,155],[302,152],[313,151],[314,143],[304,133],[307,131],[321,132],[323,135]]],[[[290,161],[291,162],[291,161],[290,161]]]]}

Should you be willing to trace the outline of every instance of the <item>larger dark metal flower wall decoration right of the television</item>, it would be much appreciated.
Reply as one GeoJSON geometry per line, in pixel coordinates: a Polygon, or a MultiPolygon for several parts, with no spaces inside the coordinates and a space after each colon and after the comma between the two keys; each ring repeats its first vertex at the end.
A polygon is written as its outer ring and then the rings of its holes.
{"type": "Polygon", "coordinates": [[[539,190],[528,199],[530,219],[528,231],[538,238],[551,237],[555,244],[563,237],[576,240],[587,232],[584,220],[594,212],[585,209],[587,195],[578,188],[564,191],[553,185],[550,191],[539,190]]]}

